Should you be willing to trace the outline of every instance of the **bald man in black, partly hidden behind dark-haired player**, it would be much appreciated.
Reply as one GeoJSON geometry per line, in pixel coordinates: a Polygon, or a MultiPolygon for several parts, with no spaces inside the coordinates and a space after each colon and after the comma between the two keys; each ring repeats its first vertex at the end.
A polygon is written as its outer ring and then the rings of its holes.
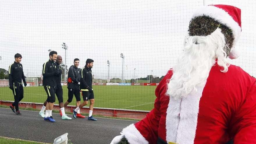
{"type": "MultiPolygon", "coordinates": [[[[63,90],[62,90],[62,86],[61,86],[61,73],[62,73],[62,69],[61,69],[61,66],[60,64],[62,63],[62,57],[60,55],[57,56],[56,58],[56,61],[55,61],[55,66],[56,66],[56,69],[60,71],[60,74],[56,75],[55,76],[55,79],[56,79],[56,91],[55,91],[55,94],[58,98],[58,101],[59,101],[59,107],[60,107],[60,113],[62,114],[61,116],[61,119],[62,120],[71,120],[72,118],[68,117],[66,114],[65,114],[65,110],[64,110],[64,104],[63,104],[63,90]]],[[[42,106],[42,109],[41,111],[39,112],[39,114],[45,118],[47,116],[47,110],[48,110],[48,104],[47,104],[47,100],[44,102],[44,105],[42,106]],[[44,114],[44,111],[46,109],[46,112],[44,114]]]]}

